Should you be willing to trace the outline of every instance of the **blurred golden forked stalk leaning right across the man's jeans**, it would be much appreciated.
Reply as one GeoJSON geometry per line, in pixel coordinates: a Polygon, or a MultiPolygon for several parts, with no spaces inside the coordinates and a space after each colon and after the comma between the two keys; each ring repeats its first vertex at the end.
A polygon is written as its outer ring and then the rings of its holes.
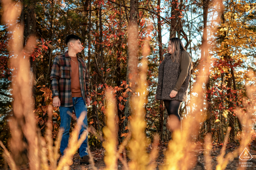
{"type": "Polygon", "coordinates": [[[78,148],[81,146],[83,141],[86,139],[86,136],[88,135],[87,130],[82,133],[80,136],[80,139],[78,140],[79,132],[82,128],[83,120],[86,116],[85,112],[82,112],[81,116],[78,118],[77,124],[75,126],[75,129],[72,132],[71,138],[69,138],[68,141],[68,147],[64,150],[64,155],[61,157],[59,161],[59,165],[57,167],[57,170],[61,170],[65,166],[72,165],[72,157],[78,150],[78,148]]]}

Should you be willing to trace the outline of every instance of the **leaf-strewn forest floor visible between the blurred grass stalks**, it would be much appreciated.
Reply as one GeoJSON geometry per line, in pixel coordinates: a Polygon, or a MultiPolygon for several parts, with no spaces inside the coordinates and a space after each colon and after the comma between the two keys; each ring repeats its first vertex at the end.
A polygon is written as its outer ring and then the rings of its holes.
{"type": "MultiPolygon", "coordinates": [[[[227,144],[225,156],[226,156],[227,153],[233,152],[236,147],[239,147],[239,146],[237,146],[234,143],[227,144]]],[[[211,150],[210,154],[211,154],[211,158],[212,158],[212,169],[213,170],[216,169],[216,166],[218,164],[216,159],[217,159],[218,155],[221,153],[221,148],[222,148],[221,144],[216,144],[215,146],[213,146],[213,148],[211,150]]],[[[167,143],[161,142],[161,144],[159,145],[158,158],[155,161],[157,163],[156,170],[160,170],[161,167],[165,163],[165,151],[166,151],[166,149],[167,149],[167,143]]],[[[250,164],[249,164],[250,167],[246,167],[244,170],[256,170],[256,151],[254,149],[256,149],[256,146],[252,144],[250,153],[253,157],[251,159],[251,161],[253,161],[253,162],[250,162],[250,164]]],[[[97,170],[104,170],[105,167],[106,167],[106,165],[104,163],[104,160],[103,160],[104,152],[105,152],[104,148],[92,151],[92,154],[93,154],[94,158],[97,159],[97,162],[95,162],[95,167],[96,167],[97,170]]],[[[147,152],[150,153],[150,149],[147,148],[147,152]]],[[[204,153],[203,146],[200,145],[200,144],[197,144],[197,147],[196,147],[195,150],[193,150],[192,154],[195,156],[195,158],[198,158],[197,159],[198,161],[195,160],[193,162],[189,162],[189,164],[191,164],[189,166],[189,167],[191,167],[191,168],[189,168],[189,170],[204,170],[204,168],[205,168],[204,167],[205,158],[204,158],[203,153],[204,153]]],[[[129,152],[127,154],[129,154],[129,152]]],[[[224,156],[224,158],[225,158],[225,156],[224,156]]],[[[128,162],[130,161],[129,158],[127,158],[127,161],[128,162]]],[[[93,167],[91,165],[80,165],[78,155],[75,155],[73,162],[74,163],[73,163],[73,165],[71,165],[71,170],[90,170],[90,169],[93,169],[93,167]]],[[[125,169],[123,164],[119,160],[117,162],[117,167],[118,167],[118,170],[125,169]]],[[[239,167],[241,167],[241,160],[237,157],[237,158],[234,158],[233,161],[229,161],[225,170],[236,170],[239,167]]]]}

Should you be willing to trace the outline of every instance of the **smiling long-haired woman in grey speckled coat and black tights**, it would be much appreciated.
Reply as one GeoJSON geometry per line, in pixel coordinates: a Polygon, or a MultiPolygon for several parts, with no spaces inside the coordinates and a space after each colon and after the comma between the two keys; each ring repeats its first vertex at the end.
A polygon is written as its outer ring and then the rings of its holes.
{"type": "Polygon", "coordinates": [[[169,128],[181,130],[179,109],[187,101],[192,59],[179,38],[171,38],[168,53],[158,68],[156,100],[163,100],[169,115],[169,128]]]}

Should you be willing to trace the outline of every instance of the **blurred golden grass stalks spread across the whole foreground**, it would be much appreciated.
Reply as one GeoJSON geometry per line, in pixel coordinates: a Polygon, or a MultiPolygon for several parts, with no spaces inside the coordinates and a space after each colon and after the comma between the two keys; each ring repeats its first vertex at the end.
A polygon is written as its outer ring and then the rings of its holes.
{"type": "MultiPolygon", "coordinates": [[[[83,124],[83,119],[85,114],[82,114],[76,124],[75,130],[72,132],[72,136],[69,139],[69,144],[67,149],[64,151],[63,157],[59,161],[57,166],[57,159],[59,158],[58,150],[60,146],[61,134],[59,132],[56,142],[53,147],[52,140],[52,108],[49,107],[48,116],[49,121],[47,123],[46,137],[43,138],[40,134],[39,129],[36,126],[35,115],[33,113],[34,108],[32,107],[34,101],[31,96],[31,85],[32,78],[30,74],[30,66],[27,58],[29,56],[22,53],[23,50],[23,26],[16,23],[18,16],[21,12],[21,4],[14,3],[11,0],[3,0],[3,20],[5,24],[8,24],[9,31],[12,32],[12,39],[10,40],[10,51],[13,51],[14,57],[11,58],[11,65],[15,67],[16,72],[13,75],[13,81],[15,86],[13,86],[13,110],[14,117],[10,120],[10,129],[12,138],[10,139],[11,151],[19,153],[25,146],[28,151],[28,158],[30,162],[31,170],[61,170],[69,169],[72,164],[72,157],[78,150],[79,146],[82,144],[83,140],[86,139],[88,134],[84,131],[81,138],[78,140],[79,131],[83,124]],[[19,126],[17,126],[19,124],[19,126]],[[27,144],[22,141],[22,134],[25,135],[27,139],[27,144]],[[50,165],[48,165],[48,161],[50,165]]],[[[27,50],[32,50],[33,42],[35,38],[31,37],[26,45],[27,50]]],[[[157,144],[159,138],[154,139],[153,150],[151,154],[146,153],[147,140],[145,135],[146,122],[144,120],[145,109],[144,105],[147,103],[147,59],[148,55],[148,44],[144,46],[143,49],[143,59],[140,67],[140,72],[138,74],[138,80],[136,80],[138,87],[136,89],[136,94],[131,97],[131,108],[132,108],[132,119],[130,121],[131,131],[129,132],[126,139],[122,144],[118,146],[117,142],[117,108],[115,99],[110,90],[107,91],[107,107],[106,107],[106,117],[107,117],[107,127],[103,129],[105,141],[103,146],[106,149],[105,163],[106,169],[114,170],[117,169],[117,159],[123,163],[126,170],[145,170],[145,169],[155,169],[156,164],[154,163],[158,155],[157,144]],[[128,140],[131,140],[128,142],[128,140]],[[129,145],[129,157],[131,161],[127,163],[125,146],[129,145]],[[118,150],[117,150],[118,146],[118,150]],[[120,156],[123,152],[124,158],[120,156]]],[[[210,67],[210,62],[206,63],[205,68],[210,67]]],[[[173,140],[169,142],[168,150],[166,151],[166,162],[162,167],[163,170],[186,170],[191,166],[195,165],[196,158],[193,156],[192,151],[195,149],[193,144],[193,138],[198,135],[199,123],[203,121],[203,104],[198,104],[198,101],[202,100],[204,93],[203,84],[206,82],[206,75],[208,73],[200,70],[199,76],[197,78],[196,84],[193,87],[192,92],[197,93],[197,96],[193,97],[189,105],[191,109],[191,115],[185,117],[182,122],[182,131],[178,128],[173,131],[173,140]],[[192,162],[192,165],[189,164],[192,162]]],[[[251,72],[248,73],[251,79],[255,77],[251,72]]],[[[255,85],[246,86],[247,94],[249,98],[253,98],[255,95],[256,87],[255,85]]],[[[218,156],[217,170],[223,170],[226,168],[227,163],[236,157],[238,154],[244,150],[251,140],[251,125],[252,125],[252,113],[254,112],[254,104],[248,105],[244,103],[247,112],[243,113],[238,109],[237,114],[244,125],[244,132],[240,135],[241,146],[235,150],[233,153],[227,154],[224,158],[225,147],[227,144],[228,134],[230,128],[228,129],[225,142],[221,154],[218,156]]],[[[206,137],[206,168],[211,170],[211,136],[206,137]]],[[[8,161],[8,165],[12,170],[18,169],[15,164],[14,159],[11,157],[10,153],[0,142],[1,147],[4,148],[5,158],[8,161]]],[[[89,152],[90,154],[90,152],[89,152]]],[[[90,154],[91,155],[91,154],[90,154]]],[[[91,163],[93,164],[93,158],[91,157],[91,163]]],[[[95,166],[93,164],[93,169],[95,166]]]]}

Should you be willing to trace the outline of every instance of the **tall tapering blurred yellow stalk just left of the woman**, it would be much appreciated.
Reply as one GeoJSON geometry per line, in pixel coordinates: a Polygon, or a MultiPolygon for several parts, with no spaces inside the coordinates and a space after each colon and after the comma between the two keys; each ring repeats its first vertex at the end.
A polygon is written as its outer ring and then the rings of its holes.
{"type": "Polygon", "coordinates": [[[131,170],[144,170],[148,164],[146,154],[146,122],[145,122],[145,104],[147,103],[147,59],[146,55],[142,58],[141,68],[138,77],[138,88],[136,95],[131,97],[132,119],[131,130],[132,139],[129,143],[131,150],[129,167],[131,170]]]}

